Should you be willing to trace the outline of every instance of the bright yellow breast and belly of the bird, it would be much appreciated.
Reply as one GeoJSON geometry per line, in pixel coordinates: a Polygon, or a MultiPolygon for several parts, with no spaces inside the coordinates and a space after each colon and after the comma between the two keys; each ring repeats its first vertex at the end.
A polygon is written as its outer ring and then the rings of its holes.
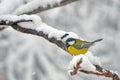
{"type": "Polygon", "coordinates": [[[71,55],[79,55],[79,54],[85,54],[88,51],[88,48],[82,48],[82,49],[76,49],[73,46],[69,46],[67,48],[67,51],[71,54],[71,55]]]}

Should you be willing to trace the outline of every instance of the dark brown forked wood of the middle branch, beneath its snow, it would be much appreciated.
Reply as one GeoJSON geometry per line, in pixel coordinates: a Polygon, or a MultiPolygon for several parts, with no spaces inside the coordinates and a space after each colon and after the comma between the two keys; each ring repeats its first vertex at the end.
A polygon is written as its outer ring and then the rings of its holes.
{"type": "Polygon", "coordinates": [[[32,20],[18,20],[16,22],[10,21],[8,23],[6,23],[6,21],[1,21],[0,25],[9,25],[12,28],[14,28],[15,30],[19,31],[19,32],[41,36],[41,37],[45,38],[46,40],[50,41],[51,43],[56,44],[58,47],[62,48],[63,50],[66,50],[66,46],[62,41],[57,40],[54,37],[48,38],[48,34],[45,34],[42,31],[38,32],[37,30],[24,28],[24,27],[21,27],[21,26],[18,25],[18,23],[20,23],[20,22],[31,22],[31,21],[32,20]]]}

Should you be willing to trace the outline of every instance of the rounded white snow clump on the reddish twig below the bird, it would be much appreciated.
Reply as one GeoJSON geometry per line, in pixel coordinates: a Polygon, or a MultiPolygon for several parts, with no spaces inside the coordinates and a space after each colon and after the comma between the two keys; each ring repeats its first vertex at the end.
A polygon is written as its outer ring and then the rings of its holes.
{"type": "Polygon", "coordinates": [[[94,64],[100,64],[101,62],[96,56],[93,56],[92,53],[88,51],[87,55],[80,54],[80,55],[73,57],[73,59],[70,61],[70,64],[68,66],[69,73],[74,70],[74,66],[76,66],[76,64],[81,59],[82,59],[82,63],[80,64],[79,70],[97,72],[94,64]],[[88,56],[88,54],[89,54],[89,56],[88,56]]]}

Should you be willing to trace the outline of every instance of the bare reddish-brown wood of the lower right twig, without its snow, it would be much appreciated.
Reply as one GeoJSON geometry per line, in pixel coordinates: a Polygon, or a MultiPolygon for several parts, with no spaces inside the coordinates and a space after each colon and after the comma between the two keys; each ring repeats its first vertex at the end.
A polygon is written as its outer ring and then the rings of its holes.
{"type": "Polygon", "coordinates": [[[98,72],[79,70],[81,63],[82,63],[82,59],[80,59],[77,62],[76,66],[74,66],[74,70],[71,72],[71,75],[76,75],[77,71],[80,71],[80,72],[83,72],[86,74],[94,74],[94,75],[98,75],[98,76],[110,77],[113,80],[120,80],[119,76],[116,73],[113,73],[110,70],[105,70],[104,68],[100,67],[99,65],[94,65],[98,72]]]}

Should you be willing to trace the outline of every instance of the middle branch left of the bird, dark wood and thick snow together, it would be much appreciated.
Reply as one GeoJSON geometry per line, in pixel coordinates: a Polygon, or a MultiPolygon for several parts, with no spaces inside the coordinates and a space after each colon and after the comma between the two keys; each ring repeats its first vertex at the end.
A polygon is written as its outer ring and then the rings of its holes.
{"type": "Polygon", "coordinates": [[[62,30],[57,30],[48,26],[47,24],[41,21],[41,18],[37,15],[3,15],[0,16],[0,25],[10,25],[15,30],[20,31],[22,33],[28,33],[32,35],[42,36],[48,41],[55,43],[57,46],[66,50],[65,40],[68,37],[74,36],[77,38],[78,36],[73,32],[65,32],[62,30]],[[21,26],[19,23],[23,22],[33,22],[36,27],[26,28],[25,26],[21,26]],[[65,34],[69,34],[66,38],[62,39],[65,34]]]}

